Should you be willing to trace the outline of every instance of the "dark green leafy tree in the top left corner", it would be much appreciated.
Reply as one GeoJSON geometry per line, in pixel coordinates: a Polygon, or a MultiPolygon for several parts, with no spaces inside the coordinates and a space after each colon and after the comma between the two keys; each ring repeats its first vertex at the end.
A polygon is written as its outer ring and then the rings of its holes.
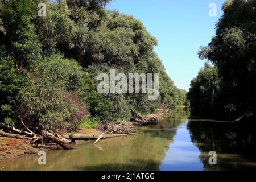
{"type": "Polygon", "coordinates": [[[2,1],[0,44],[5,45],[16,67],[26,68],[40,52],[40,43],[32,23],[36,9],[31,0],[2,1]]]}

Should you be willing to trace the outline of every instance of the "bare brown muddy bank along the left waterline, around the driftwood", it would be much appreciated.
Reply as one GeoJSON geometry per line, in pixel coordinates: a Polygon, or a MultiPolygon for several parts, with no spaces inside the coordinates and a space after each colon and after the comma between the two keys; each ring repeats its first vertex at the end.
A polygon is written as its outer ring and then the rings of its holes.
{"type": "MultiPolygon", "coordinates": [[[[148,114],[147,117],[160,118],[163,117],[164,113],[158,112],[154,114],[148,114]]],[[[76,132],[63,134],[61,137],[69,138],[70,135],[101,135],[103,132],[95,128],[90,129],[79,129],[76,132]]],[[[138,132],[136,132],[138,133],[138,132]]],[[[135,133],[135,134],[136,134],[135,133]]],[[[105,133],[101,139],[114,138],[126,136],[128,134],[107,134],[105,133]]],[[[92,139],[96,140],[96,139],[92,139]]],[[[20,158],[21,156],[38,154],[40,150],[49,151],[49,150],[62,150],[61,147],[57,146],[55,143],[47,144],[47,146],[41,146],[37,148],[28,143],[26,139],[16,139],[8,137],[0,137],[0,162],[1,160],[13,160],[20,158]]]]}

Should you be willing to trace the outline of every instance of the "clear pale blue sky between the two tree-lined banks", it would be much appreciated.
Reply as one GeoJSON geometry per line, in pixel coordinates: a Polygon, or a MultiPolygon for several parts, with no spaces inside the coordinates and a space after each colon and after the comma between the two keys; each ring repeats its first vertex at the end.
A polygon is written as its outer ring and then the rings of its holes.
{"type": "Polygon", "coordinates": [[[215,34],[225,0],[113,0],[106,9],[133,15],[158,39],[155,51],[163,60],[174,84],[189,90],[204,61],[197,56],[215,34]],[[209,4],[216,3],[217,16],[209,16],[209,4]]]}

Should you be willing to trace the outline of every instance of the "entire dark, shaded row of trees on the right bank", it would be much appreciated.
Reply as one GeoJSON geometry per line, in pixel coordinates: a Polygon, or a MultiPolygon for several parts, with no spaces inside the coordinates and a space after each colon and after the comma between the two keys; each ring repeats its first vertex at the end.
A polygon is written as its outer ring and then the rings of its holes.
{"type": "Polygon", "coordinates": [[[222,5],[216,36],[201,47],[205,67],[187,93],[194,115],[221,119],[256,114],[256,1],[232,0],[222,5]]]}

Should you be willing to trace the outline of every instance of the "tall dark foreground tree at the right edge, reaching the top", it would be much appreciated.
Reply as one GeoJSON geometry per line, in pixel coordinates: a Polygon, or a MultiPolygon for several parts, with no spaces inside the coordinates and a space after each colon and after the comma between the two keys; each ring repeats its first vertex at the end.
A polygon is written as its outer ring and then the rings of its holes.
{"type": "MultiPolygon", "coordinates": [[[[216,25],[216,36],[199,51],[199,57],[211,61],[221,78],[220,115],[230,103],[236,108],[233,118],[256,113],[255,5],[254,0],[226,1],[222,6],[224,14],[216,25]]],[[[193,102],[191,105],[195,106],[193,102]]]]}

